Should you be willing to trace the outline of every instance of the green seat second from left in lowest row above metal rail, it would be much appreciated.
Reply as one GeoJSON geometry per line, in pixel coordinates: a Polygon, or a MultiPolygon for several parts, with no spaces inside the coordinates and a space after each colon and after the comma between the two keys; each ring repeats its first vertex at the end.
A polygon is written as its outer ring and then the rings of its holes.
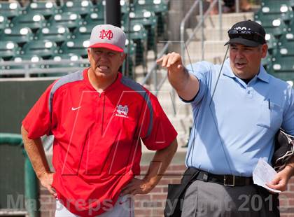
{"type": "Polygon", "coordinates": [[[30,41],[22,47],[22,55],[38,55],[48,59],[58,53],[57,44],[54,41],[30,41]]]}

